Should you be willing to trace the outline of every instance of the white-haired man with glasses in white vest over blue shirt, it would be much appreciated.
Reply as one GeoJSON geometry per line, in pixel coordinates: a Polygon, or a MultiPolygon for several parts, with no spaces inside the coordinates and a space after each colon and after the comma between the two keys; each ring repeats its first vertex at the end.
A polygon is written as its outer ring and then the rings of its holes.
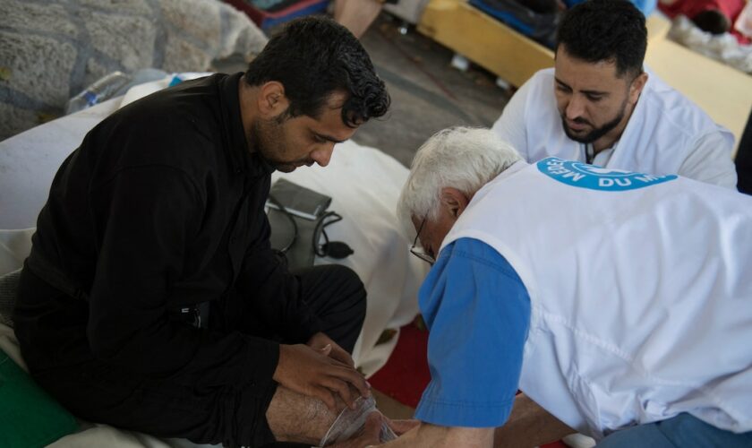
{"type": "Polygon", "coordinates": [[[433,263],[432,380],[385,446],[752,444],[752,198],[528,164],[458,127],[417,152],[397,212],[433,263]]]}

